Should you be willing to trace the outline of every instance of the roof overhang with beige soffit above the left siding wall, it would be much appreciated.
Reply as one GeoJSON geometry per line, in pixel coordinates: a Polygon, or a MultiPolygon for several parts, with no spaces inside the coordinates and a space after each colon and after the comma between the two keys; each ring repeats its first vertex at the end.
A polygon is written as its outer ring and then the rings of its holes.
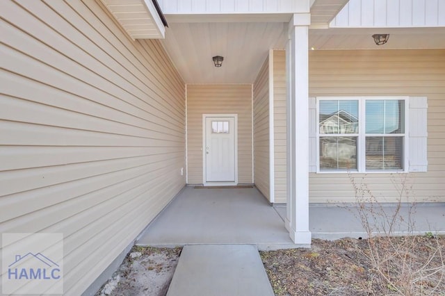
{"type": "Polygon", "coordinates": [[[156,0],[101,1],[133,40],[165,38],[167,22],[156,0]]]}

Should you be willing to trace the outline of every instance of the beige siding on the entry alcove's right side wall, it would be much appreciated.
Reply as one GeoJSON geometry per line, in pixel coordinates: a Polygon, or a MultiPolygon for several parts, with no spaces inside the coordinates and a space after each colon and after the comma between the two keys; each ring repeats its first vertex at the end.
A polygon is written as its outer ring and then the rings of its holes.
{"type": "Polygon", "coordinates": [[[269,58],[253,85],[254,183],[270,201],[269,58]]]}

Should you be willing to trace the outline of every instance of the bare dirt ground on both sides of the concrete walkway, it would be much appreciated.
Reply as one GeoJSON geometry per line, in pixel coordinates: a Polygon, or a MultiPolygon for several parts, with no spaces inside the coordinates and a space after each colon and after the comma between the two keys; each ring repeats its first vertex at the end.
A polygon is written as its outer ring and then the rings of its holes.
{"type": "MultiPolygon", "coordinates": [[[[164,296],[180,248],[133,247],[99,295],[164,296]]],[[[445,237],[313,240],[260,252],[275,295],[445,296],[445,237]]]]}

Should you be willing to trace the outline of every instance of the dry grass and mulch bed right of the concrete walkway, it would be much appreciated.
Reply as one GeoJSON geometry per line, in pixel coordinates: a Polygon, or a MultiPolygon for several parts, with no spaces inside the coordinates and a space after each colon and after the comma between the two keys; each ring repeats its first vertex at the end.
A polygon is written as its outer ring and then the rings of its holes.
{"type": "Polygon", "coordinates": [[[419,247],[405,252],[403,260],[394,257],[385,261],[389,271],[387,280],[382,278],[370,259],[369,240],[313,240],[311,249],[260,254],[275,295],[445,296],[443,257],[438,256],[438,250],[445,249],[445,237],[398,237],[392,240],[392,245],[388,245],[385,238],[372,240],[382,254],[394,254],[394,247],[402,250],[408,241],[413,240],[419,247]],[[409,269],[422,270],[410,272],[416,274],[409,278],[413,283],[410,284],[412,290],[396,288],[405,286],[405,274],[409,269]]]}

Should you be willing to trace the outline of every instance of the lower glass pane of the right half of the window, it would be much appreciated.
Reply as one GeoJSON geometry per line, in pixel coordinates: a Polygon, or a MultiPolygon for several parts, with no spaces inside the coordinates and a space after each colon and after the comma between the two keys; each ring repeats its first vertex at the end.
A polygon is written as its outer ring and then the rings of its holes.
{"type": "Polygon", "coordinates": [[[403,137],[366,137],[366,170],[403,170],[403,137]]]}

